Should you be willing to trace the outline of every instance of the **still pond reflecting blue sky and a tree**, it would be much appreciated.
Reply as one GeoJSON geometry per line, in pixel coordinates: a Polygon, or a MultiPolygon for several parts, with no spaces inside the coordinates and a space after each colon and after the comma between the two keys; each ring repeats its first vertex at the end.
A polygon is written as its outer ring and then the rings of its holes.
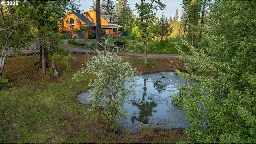
{"type": "MultiPolygon", "coordinates": [[[[186,79],[180,78],[174,72],[161,72],[146,74],[136,77],[136,95],[131,96],[130,104],[126,103],[124,108],[129,114],[122,118],[118,125],[119,131],[131,133],[140,132],[141,128],[188,128],[184,111],[172,104],[170,94],[179,93],[174,84],[185,84],[186,79]],[[144,100],[145,103],[137,103],[137,100],[144,100]]],[[[90,94],[78,95],[77,100],[84,104],[91,104],[88,101],[90,94]]]]}

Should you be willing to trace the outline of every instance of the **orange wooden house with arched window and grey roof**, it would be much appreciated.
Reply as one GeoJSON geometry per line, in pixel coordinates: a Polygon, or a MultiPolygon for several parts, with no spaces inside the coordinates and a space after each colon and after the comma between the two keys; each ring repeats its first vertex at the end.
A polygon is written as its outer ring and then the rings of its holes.
{"type": "MultiPolygon", "coordinates": [[[[118,37],[122,34],[122,26],[114,24],[113,16],[103,15],[100,17],[101,28],[103,29],[102,35],[110,35],[112,37],[118,37]]],[[[89,10],[84,13],[80,11],[70,12],[65,18],[62,19],[62,23],[59,24],[60,34],[65,34],[72,39],[84,39],[88,38],[88,34],[96,30],[96,11],[89,10]],[[84,34],[75,34],[75,30],[79,30],[80,26],[88,26],[90,30],[84,34]]]]}

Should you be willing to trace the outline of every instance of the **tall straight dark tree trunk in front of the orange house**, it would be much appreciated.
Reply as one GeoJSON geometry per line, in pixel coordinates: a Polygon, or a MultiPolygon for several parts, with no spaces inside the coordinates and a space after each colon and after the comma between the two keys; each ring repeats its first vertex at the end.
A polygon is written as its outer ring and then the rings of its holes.
{"type": "MultiPolygon", "coordinates": [[[[100,51],[100,36],[101,36],[101,26],[100,26],[100,0],[96,0],[96,50],[100,51]]],[[[96,56],[98,53],[95,52],[96,56]]]]}

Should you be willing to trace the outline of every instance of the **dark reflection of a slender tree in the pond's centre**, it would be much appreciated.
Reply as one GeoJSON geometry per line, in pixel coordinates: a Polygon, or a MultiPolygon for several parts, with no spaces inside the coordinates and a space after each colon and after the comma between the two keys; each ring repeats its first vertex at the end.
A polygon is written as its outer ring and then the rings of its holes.
{"type": "MultiPolygon", "coordinates": [[[[146,82],[147,79],[144,79],[144,87],[143,89],[143,96],[142,96],[142,100],[145,101],[145,97],[147,96],[146,93],[146,82]]],[[[134,123],[135,121],[140,121],[144,124],[148,123],[149,117],[153,116],[153,112],[156,113],[156,110],[153,110],[153,108],[155,108],[157,106],[157,104],[151,99],[148,98],[148,100],[146,101],[146,103],[141,104],[136,102],[136,100],[131,100],[132,106],[137,106],[138,110],[139,110],[139,116],[132,116],[132,122],[134,123]],[[149,101],[148,101],[149,100],[149,101]]],[[[141,99],[139,98],[139,101],[141,101],[141,99]]]]}

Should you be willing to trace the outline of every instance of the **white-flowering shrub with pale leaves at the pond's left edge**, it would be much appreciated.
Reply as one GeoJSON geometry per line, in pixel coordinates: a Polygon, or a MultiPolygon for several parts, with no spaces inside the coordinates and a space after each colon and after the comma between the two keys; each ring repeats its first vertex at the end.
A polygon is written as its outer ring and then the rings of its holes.
{"type": "Polygon", "coordinates": [[[107,129],[117,130],[117,122],[127,115],[123,106],[128,102],[129,95],[135,94],[135,76],[139,74],[136,68],[132,68],[129,62],[123,62],[122,58],[111,52],[98,52],[92,60],[87,62],[87,67],[74,74],[75,80],[86,74],[94,74],[96,78],[90,80],[90,101],[92,107],[86,111],[92,118],[99,115],[106,119],[107,129]],[[102,106],[104,110],[97,112],[96,107],[102,106]]]}

